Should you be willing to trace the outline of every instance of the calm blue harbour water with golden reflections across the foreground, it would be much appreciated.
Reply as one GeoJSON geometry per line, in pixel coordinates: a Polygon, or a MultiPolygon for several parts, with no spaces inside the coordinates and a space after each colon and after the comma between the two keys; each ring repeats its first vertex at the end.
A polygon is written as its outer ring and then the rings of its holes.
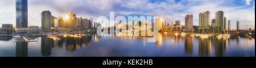
{"type": "Polygon", "coordinates": [[[0,37],[0,57],[255,57],[255,37],[217,39],[159,33],[155,43],[148,43],[147,38],[91,34],[14,43],[13,37],[0,37]]]}

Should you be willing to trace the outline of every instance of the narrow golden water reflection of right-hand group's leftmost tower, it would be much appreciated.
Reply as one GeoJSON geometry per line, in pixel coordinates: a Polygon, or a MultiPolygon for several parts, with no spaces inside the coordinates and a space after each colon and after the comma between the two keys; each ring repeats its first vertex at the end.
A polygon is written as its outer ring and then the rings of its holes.
{"type": "Polygon", "coordinates": [[[185,36],[185,52],[192,55],[193,53],[193,39],[190,35],[185,36]]]}

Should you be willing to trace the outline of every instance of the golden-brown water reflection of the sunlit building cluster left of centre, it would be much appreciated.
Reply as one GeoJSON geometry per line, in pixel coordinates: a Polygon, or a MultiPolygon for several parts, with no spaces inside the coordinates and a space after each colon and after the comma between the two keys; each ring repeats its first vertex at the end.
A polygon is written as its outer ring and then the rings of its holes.
{"type": "Polygon", "coordinates": [[[80,47],[86,47],[86,45],[92,43],[92,36],[85,36],[82,38],[73,38],[68,37],[66,38],[66,50],[67,51],[75,51],[76,48],[80,49],[80,47]]]}

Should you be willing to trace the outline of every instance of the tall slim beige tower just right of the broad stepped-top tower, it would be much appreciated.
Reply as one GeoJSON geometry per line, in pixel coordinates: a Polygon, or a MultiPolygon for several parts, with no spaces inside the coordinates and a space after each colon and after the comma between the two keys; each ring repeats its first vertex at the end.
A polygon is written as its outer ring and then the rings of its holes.
{"type": "Polygon", "coordinates": [[[215,23],[217,27],[224,29],[224,12],[223,11],[216,12],[215,23]]]}

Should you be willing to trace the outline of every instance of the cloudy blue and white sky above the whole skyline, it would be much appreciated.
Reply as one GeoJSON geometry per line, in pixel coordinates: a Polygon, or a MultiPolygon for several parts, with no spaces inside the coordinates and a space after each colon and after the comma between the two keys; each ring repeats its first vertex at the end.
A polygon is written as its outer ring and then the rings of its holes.
{"type": "MultiPolygon", "coordinates": [[[[192,14],[193,25],[199,24],[199,13],[210,11],[210,19],[215,19],[217,11],[224,11],[236,29],[255,28],[255,0],[28,0],[28,26],[41,26],[41,13],[51,11],[53,16],[65,17],[75,13],[79,17],[109,17],[110,11],[117,16],[159,16],[168,23],[180,20],[184,25],[185,15],[192,14]]],[[[0,24],[14,24],[15,0],[0,0],[0,24]]],[[[0,25],[1,26],[1,25],[0,25]]]]}

